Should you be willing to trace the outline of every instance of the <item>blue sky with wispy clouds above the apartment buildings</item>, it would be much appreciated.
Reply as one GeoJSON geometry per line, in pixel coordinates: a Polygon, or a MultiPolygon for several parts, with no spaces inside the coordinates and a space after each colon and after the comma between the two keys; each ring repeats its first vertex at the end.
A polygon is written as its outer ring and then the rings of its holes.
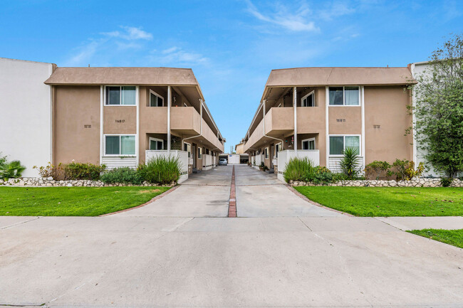
{"type": "Polygon", "coordinates": [[[9,1],[0,57],[192,68],[226,151],[270,70],[405,66],[463,29],[463,1],[9,1]]]}

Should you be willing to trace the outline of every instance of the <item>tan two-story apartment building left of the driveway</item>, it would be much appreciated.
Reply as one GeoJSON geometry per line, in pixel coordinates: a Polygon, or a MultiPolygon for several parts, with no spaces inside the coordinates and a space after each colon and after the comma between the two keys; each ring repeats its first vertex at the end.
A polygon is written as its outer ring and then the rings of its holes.
{"type": "MultiPolygon", "coordinates": [[[[49,119],[48,132],[42,133],[51,144],[43,145],[49,159],[35,164],[79,161],[135,168],[172,152],[184,158],[184,174],[189,174],[212,168],[224,151],[225,140],[191,69],[52,65],[51,74],[37,79],[48,87],[48,115],[43,119],[49,119]]],[[[34,112],[34,105],[29,107],[34,112]]],[[[14,148],[26,156],[36,151],[19,143],[2,147],[4,154],[14,148]]]]}

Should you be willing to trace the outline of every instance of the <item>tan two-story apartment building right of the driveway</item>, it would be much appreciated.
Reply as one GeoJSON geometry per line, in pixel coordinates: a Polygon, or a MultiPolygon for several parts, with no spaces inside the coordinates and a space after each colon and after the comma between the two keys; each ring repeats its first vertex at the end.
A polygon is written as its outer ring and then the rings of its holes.
{"type": "Polygon", "coordinates": [[[282,179],[293,156],[339,170],[346,147],[361,164],[413,159],[409,68],[272,70],[244,137],[244,152],[282,179]]]}

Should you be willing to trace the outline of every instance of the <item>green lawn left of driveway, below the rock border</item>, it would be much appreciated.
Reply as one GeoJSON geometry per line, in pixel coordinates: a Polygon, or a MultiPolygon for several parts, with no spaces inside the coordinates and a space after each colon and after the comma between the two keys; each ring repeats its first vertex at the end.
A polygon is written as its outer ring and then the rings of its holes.
{"type": "Polygon", "coordinates": [[[99,216],[139,206],[167,187],[0,187],[0,216],[99,216]]]}

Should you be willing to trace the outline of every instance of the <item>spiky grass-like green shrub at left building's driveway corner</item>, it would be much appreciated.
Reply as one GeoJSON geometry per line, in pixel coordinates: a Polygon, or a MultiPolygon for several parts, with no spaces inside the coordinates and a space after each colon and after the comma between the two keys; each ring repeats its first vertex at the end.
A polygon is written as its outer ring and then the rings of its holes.
{"type": "Polygon", "coordinates": [[[142,179],[152,184],[170,184],[180,178],[180,160],[178,157],[157,156],[140,164],[137,171],[142,179]]]}

